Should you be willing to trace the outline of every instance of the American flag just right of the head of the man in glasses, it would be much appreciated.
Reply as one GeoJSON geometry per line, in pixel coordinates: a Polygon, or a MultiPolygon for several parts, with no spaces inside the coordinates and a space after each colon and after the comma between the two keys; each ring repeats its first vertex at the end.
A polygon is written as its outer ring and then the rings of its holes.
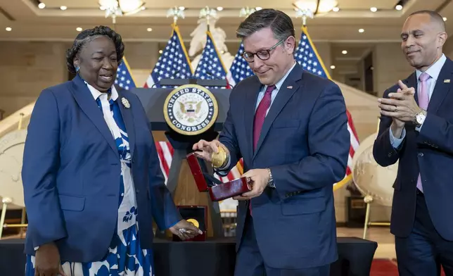
{"type": "MultiPolygon", "coordinates": [[[[298,61],[302,68],[310,73],[319,75],[321,77],[326,77],[331,80],[331,76],[326,70],[324,63],[322,62],[319,54],[310,39],[310,35],[307,32],[307,27],[302,27],[302,35],[300,37],[300,41],[298,44],[298,48],[295,51],[295,60],[298,61]]],[[[344,184],[349,182],[352,178],[352,157],[354,157],[354,153],[359,147],[359,138],[357,137],[357,132],[355,131],[354,123],[352,123],[352,117],[349,111],[346,110],[347,114],[347,130],[350,132],[351,137],[351,144],[349,148],[349,158],[347,159],[347,168],[346,168],[346,175],[343,180],[334,184],[333,189],[338,189],[342,187],[344,184]]]]}

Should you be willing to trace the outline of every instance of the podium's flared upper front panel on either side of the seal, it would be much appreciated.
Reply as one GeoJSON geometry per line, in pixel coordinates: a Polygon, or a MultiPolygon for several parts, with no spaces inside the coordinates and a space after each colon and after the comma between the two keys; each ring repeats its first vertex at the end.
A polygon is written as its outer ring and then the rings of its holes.
{"type": "MultiPolygon", "coordinates": [[[[164,117],[165,99],[172,92],[174,88],[132,88],[129,92],[136,94],[149,122],[152,124],[153,131],[168,131],[170,127],[167,125],[164,117]]],[[[209,89],[215,96],[218,106],[217,120],[214,124],[214,130],[219,132],[223,128],[223,123],[227,118],[229,108],[229,95],[231,89],[209,89]]]]}

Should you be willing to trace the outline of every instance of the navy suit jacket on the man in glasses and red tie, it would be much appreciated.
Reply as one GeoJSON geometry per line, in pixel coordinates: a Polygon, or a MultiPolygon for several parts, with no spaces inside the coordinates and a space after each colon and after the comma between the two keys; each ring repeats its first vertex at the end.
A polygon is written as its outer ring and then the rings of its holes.
{"type": "MultiPolygon", "coordinates": [[[[231,167],[270,168],[275,189],[251,200],[255,234],[271,268],[308,268],[336,261],[333,184],[345,177],[350,149],[340,88],[296,64],[267,114],[253,151],[253,118],[262,84],[254,75],[231,91],[219,136],[231,167]]],[[[228,168],[231,169],[231,168],[228,168]]],[[[236,250],[248,202],[239,201],[236,250]]]]}

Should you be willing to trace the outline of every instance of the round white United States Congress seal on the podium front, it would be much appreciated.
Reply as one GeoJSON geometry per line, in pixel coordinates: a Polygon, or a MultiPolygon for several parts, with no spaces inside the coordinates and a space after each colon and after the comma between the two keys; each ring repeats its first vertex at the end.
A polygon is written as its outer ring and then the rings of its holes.
{"type": "Polygon", "coordinates": [[[214,125],[217,101],[205,87],[186,84],[168,94],[164,103],[165,122],[179,134],[197,135],[214,125]]]}

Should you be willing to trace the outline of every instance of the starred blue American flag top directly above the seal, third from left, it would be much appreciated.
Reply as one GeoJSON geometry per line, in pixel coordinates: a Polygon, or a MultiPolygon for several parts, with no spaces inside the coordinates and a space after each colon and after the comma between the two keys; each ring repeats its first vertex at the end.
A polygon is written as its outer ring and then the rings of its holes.
{"type": "Polygon", "coordinates": [[[199,80],[225,80],[227,78],[227,69],[222,62],[222,58],[217,51],[214,39],[212,39],[209,31],[206,32],[206,45],[195,70],[195,77],[199,80]]]}

